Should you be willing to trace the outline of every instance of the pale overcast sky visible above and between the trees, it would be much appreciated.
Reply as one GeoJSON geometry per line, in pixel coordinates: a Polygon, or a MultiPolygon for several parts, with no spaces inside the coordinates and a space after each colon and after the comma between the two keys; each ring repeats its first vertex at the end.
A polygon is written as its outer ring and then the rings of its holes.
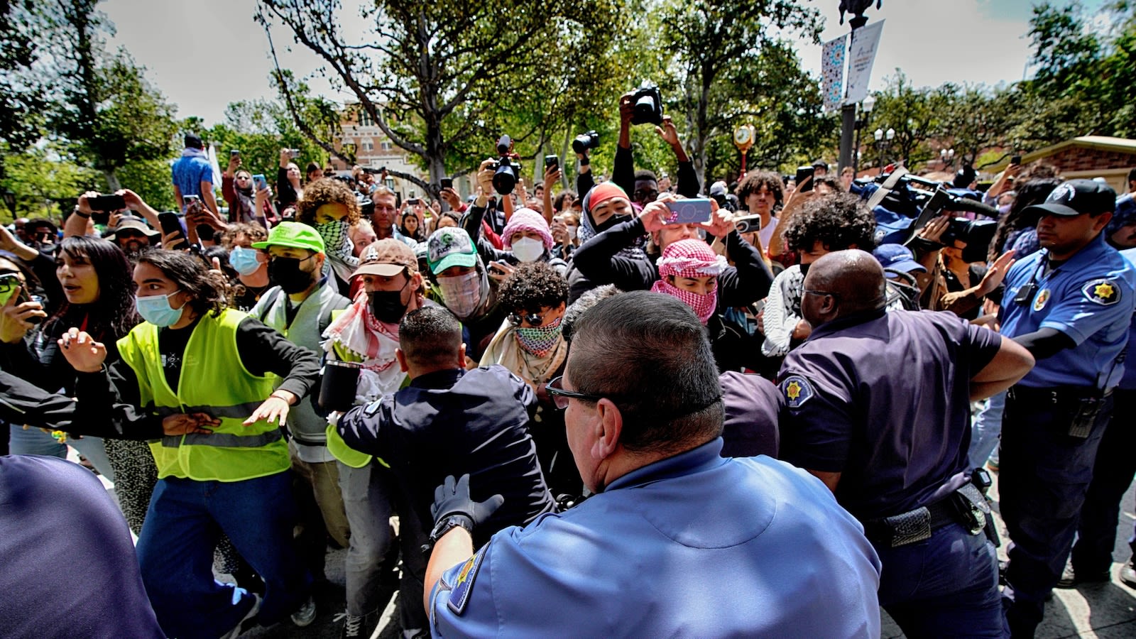
{"type": "MultiPolygon", "coordinates": [[[[1084,1],[1094,8],[1104,2],[1084,1]]],[[[838,0],[801,3],[820,8],[821,40],[847,33],[847,20],[838,22],[838,0]]],[[[344,5],[357,6],[353,0],[344,5]]],[[[886,22],[870,88],[880,89],[896,67],[917,86],[1021,80],[1031,5],[1033,0],[884,0],[883,9],[872,6],[867,13],[870,20],[886,22]]],[[[100,7],[117,27],[111,43],[126,47],[149,69],[150,80],[177,105],[178,117],[195,115],[211,125],[224,118],[228,102],[275,97],[268,84],[268,42],[252,22],[253,0],[107,0],[100,7]]],[[[346,17],[349,23],[359,19],[353,13],[346,17]]],[[[283,50],[292,44],[286,32],[278,30],[274,39],[285,68],[302,76],[319,66],[302,47],[283,50]]],[[[801,42],[797,51],[804,68],[819,76],[820,47],[801,42]]],[[[343,98],[321,81],[311,85],[343,98]]]]}

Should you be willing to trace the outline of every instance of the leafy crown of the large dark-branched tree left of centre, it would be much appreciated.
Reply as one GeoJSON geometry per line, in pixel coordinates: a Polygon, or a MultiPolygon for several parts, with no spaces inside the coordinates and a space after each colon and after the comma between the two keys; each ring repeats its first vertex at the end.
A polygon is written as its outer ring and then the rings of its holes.
{"type": "MultiPolygon", "coordinates": [[[[336,0],[261,0],[258,19],[266,30],[279,22],[316,53],[333,84],[418,158],[432,184],[400,177],[434,190],[446,175],[448,159],[471,163],[492,150],[492,141],[506,133],[502,114],[543,119],[560,110],[553,97],[575,85],[574,65],[566,61],[605,55],[619,8],[615,0],[549,0],[508,10],[460,0],[377,0],[352,18],[336,0]],[[340,26],[345,19],[367,23],[362,42],[345,39],[340,26]]],[[[286,80],[279,86],[290,89],[286,80]]],[[[309,133],[294,96],[285,94],[285,101],[309,133]]],[[[509,133],[526,140],[542,128],[541,121],[528,124],[509,133]]]]}

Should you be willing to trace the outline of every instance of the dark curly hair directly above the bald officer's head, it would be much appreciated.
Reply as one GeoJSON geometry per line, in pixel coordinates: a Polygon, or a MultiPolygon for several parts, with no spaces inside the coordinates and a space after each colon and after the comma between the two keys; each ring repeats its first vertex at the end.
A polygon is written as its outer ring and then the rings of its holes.
{"type": "Polygon", "coordinates": [[[875,234],[876,218],[863,200],[844,192],[811,198],[785,226],[790,250],[808,251],[819,241],[829,251],[871,251],[875,234]]]}

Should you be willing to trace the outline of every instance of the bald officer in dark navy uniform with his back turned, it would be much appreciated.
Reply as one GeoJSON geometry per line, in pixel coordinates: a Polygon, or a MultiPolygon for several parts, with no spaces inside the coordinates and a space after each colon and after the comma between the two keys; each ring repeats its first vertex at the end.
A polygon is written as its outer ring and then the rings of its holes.
{"type": "Polygon", "coordinates": [[[844,250],[815,262],[810,338],[785,358],[782,458],[820,478],[879,553],[879,604],[909,637],[1002,637],[985,498],[967,464],[970,401],[1033,358],[947,313],[887,313],[884,269],[844,250]]]}

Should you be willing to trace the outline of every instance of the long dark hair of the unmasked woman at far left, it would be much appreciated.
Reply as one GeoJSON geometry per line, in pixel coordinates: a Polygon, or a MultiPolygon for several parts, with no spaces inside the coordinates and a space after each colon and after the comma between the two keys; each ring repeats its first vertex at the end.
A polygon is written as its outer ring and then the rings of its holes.
{"type": "Polygon", "coordinates": [[[141,320],[134,309],[134,267],[117,244],[102,238],[75,235],[59,244],[56,264],[62,255],[72,259],[84,258],[99,277],[99,299],[91,304],[70,304],[64,299],[59,310],[47,324],[62,322],[64,326],[86,323],[86,332],[99,341],[118,340],[131,332],[141,320]]]}

